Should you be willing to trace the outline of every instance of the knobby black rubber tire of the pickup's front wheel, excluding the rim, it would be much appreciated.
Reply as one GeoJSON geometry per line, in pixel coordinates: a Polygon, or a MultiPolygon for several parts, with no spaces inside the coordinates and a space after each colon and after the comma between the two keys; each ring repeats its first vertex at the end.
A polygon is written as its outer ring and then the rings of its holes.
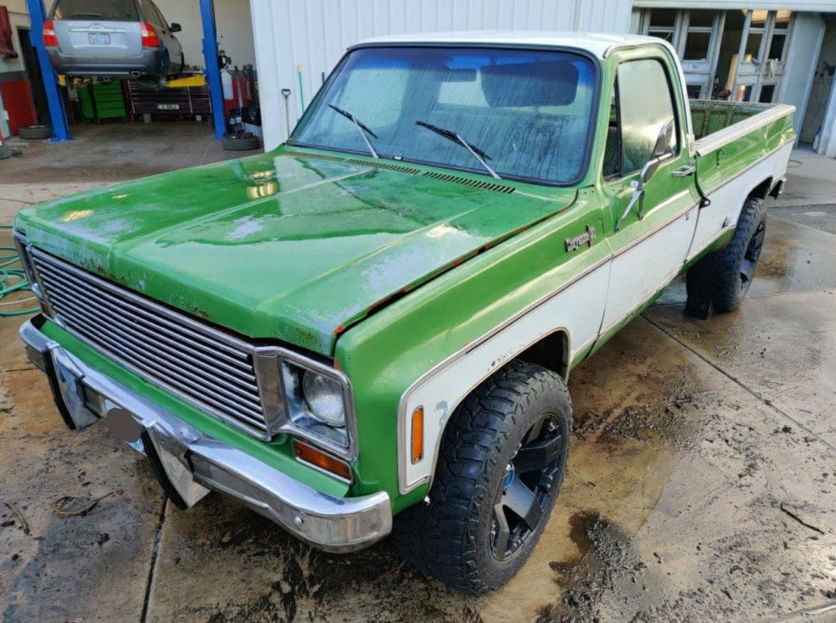
{"type": "Polygon", "coordinates": [[[514,360],[485,380],[456,408],[441,440],[435,479],[424,501],[395,517],[393,541],[424,574],[481,595],[523,567],[548,523],[565,473],[572,402],[560,375],[514,360]],[[536,529],[509,558],[493,553],[495,494],[528,431],[544,415],[558,423],[561,459],[540,503],[536,529]]]}

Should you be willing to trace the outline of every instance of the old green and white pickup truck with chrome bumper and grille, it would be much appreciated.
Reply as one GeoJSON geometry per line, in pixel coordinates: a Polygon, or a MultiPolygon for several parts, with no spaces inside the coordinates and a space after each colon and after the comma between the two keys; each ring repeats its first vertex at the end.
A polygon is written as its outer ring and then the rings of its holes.
{"type": "Polygon", "coordinates": [[[21,334],[181,508],[392,533],[482,593],[558,497],[569,371],[681,273],[686,311],[741,304],[794,138],[791,106],[689,102],[660,39],[371,39],[275,151],[20,212],[21,334]]]}

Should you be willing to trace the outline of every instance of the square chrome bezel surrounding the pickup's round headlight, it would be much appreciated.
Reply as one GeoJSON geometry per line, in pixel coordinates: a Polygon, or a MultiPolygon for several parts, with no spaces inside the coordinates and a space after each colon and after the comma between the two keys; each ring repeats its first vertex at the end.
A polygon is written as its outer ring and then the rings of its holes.
{"type": "MultiPolygon", "coordinates": [[[[357,422],[354,416],[354,392],[352,391],[349,377],[344,375],[331,365],[314,360],[305,355],[300,355],[293,350],[283,347],[261,347],[256,353],[256,370],[261,384],[262,396],[265,409],[274,413],[275,416],[268,422],[271,437],[279,434],[300,437],[305,441],[312,442],[321,449],[332,452],[338,457],[352,460],[357,457],[357,422]],[[345,413],[344,432],[346,444],[342,445],[329,437],[319,434],[307,426],[301,426],[293,419],[293,405],[289,400],[290,395],[283,373],[284,365],[293,366],[299,370],[311,371],[315,374],[324,375],[330,380],[339,384],[342,390],[343,406],[345,413]],[[273,396],[272,404],[268,405],[268,396],[273,396]]],[[[301,383],[301,375],[299,378],[301,383]]],[[[329,426],[322,422],[323,426],[329,426]]]]}

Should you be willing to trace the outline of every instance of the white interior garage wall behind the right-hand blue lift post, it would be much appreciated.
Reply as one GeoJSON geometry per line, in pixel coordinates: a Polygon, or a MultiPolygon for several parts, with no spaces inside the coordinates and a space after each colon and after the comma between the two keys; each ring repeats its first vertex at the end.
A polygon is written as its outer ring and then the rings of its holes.
{"type": "MultiPolygon", "coordinates": [[[[183,46],[186,64],[203,68],[203,24],[198,0],[155,0],[168,23],[177,22],[183,32],[175,36],[183,46]]],[[[215,21],[219,49],[232,57],[239,67],[256,63],[252,45],[252,21],[249,0],[215,0],[215,21]]]]}

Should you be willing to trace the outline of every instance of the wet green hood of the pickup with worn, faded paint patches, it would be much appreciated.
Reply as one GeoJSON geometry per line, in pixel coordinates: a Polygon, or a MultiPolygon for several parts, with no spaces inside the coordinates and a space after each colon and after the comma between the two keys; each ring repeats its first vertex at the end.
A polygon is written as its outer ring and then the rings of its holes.
{"type": "Polygon", "coordinates": [[[574,197],[482,179],[283,147],[64,197],[16,227],[188,314],[331,355],[351,324],[574,197]]]}

